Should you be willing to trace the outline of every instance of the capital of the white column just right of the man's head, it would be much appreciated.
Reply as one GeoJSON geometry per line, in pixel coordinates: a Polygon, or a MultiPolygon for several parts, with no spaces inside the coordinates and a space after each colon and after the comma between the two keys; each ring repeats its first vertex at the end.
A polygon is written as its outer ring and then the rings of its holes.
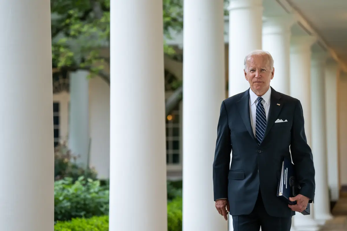
{"type": "Polygon", "coordinates": [[[263,34],[290,33],[295,22],[294,15],[263,17],[263,34]]]}

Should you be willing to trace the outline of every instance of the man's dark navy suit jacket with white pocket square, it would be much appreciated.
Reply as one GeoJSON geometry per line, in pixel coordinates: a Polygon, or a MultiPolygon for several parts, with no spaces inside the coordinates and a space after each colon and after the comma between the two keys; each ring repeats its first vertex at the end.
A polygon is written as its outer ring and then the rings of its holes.
{"type": "Polygon", "coordinates": [[[251,126],[249,89],[223,100],[213,161],[214,200],[228,198],[230,214],[245,215],[252,212],[260,189],[269,215],[295,215],[276,196],[281,161],[283,157],[290,158],[289,150],[301,186],[300,194],[312,202],[315,170],[300,101],[271,88],[265,134],[258,145],[251,126]],[[275,123],[277,119],[287,122],[275,123]]]}

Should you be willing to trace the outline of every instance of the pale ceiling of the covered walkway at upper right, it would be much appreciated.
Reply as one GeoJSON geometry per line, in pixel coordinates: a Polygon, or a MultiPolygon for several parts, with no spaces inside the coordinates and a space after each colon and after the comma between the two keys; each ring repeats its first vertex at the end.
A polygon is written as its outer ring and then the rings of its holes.
{"type": "MultiPolygon", "coordinates": [[[[346,65],[347,0],[263,0],[264,15],[288,14],[288,5],[307,21],[307,24],[346,65]]],[[[295,24],[291,32],[293,35],[308,33],[305,26],[300,23],[295,24]]],[[[317,47],[319,46],[315,44],[313,49],[318,49],[317,47]]]]}

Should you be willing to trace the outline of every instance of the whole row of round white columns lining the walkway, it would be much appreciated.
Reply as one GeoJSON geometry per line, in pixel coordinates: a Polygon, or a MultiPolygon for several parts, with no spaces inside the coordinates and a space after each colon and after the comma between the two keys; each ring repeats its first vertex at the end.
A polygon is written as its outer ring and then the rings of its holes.
{"type": "MultiPolygon", "coordinates": [[[[50,4],[4,4],[0,169],[11,177],[3,179],[0,191],[0,230],[46,231],[54,211],[50,4]]],[[[337,125],[327,111],[336,115],[338,66],[325,69],[326,54],[312,53],[316,38],[290,35],[294,18],[263,18],[262,7],[262,0],[230,1],[228,94],[248,88],[243,78],[248,52],[272,53],[274,88],[301,100],[316,168],[312,215],[297,214],[293,229],[318,230],[331,217],[325,162],[327,148],[333,150],[329,160],[337,160],[337,125]]],[[[167,229],[162,5],[111,1],[111,9],[110,231],[162,231],[167,229]]],[[[227,230],[212,196],[215,131],[225,98],[223,1],[184,1],[184,10],[183,229],[227,230]]]]}

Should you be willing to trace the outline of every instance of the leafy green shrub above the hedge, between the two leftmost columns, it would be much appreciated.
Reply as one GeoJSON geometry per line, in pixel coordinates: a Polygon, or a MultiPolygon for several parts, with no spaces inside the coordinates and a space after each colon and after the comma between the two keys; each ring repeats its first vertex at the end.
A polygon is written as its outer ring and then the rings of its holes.
{"type": "Polygon", "coordinates": [[[75,182],[65,178],[54,182],[54,221],[67,221],[74,217],[107,215],[109,189],[99,180],[79,177],[75,182]]]}

